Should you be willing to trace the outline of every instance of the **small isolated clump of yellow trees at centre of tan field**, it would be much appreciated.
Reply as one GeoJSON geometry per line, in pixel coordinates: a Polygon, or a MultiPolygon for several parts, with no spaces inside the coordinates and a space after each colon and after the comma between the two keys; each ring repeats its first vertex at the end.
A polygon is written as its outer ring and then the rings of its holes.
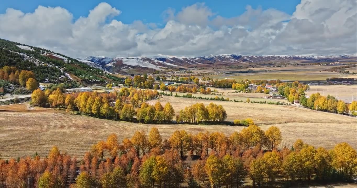
{"type": "Polygon", "coordinates": [[[176,116],[177,122],[201,123],[204,121],[223,122],[227,119],[226,110],[222,105],[210,103],[205,107],[203,103],[186,106],[176,116]]]}

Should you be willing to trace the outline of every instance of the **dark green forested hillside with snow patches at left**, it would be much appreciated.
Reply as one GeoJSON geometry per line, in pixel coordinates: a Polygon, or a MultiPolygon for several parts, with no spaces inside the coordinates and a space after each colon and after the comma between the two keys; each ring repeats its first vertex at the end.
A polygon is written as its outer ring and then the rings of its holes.
{"type": "Polygon", "coordinates": [[[0,39],[0,68],[4,66],[33,71],[39,82],[62,83],[71,80],[83,84],[122,82],[112,74],[65,55],[0,39]]]}

